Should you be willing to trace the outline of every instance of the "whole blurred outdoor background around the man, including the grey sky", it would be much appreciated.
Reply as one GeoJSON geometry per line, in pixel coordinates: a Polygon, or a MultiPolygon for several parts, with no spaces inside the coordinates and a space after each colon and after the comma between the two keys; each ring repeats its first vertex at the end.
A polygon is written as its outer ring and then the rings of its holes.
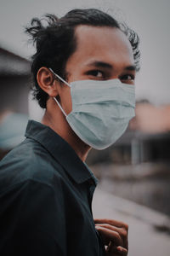
{"type": "Polygon", "coordinates": [[[46,13],[97,8],[139,33],[141,70],[136,117],[111,148],[92,150],[99,179],[94,216],[130,224],[129,255],[170,255],[170,2],[168,0],[0,0],[0,159],[24,139],[28,119],[41,120],[32,100],[31,55],[24,26],[46,13]]]}

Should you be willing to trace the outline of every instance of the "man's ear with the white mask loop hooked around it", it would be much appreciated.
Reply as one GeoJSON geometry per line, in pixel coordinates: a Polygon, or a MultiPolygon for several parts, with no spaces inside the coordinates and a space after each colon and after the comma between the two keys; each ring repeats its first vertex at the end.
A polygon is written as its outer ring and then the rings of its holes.
{"type": "Polygon", "coordinates": [[[54,74],[47,67],[41,67],[37,72],[37,84],[48,96],[58,95],[58,80],[54,79],[54,74]]]}

